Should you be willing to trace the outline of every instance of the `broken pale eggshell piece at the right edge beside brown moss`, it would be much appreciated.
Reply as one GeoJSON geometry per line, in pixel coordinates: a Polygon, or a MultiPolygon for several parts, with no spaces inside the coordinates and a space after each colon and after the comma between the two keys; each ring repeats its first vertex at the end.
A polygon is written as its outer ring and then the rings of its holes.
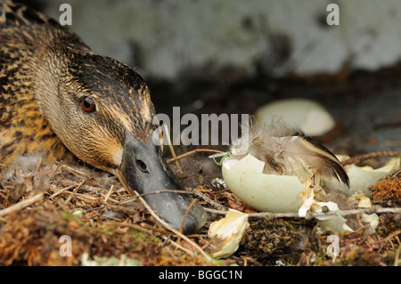
{"type": "Polygon", "coordinates": [[[348,168],[347,174],[351,191],[362,191],[365,196],[370,197],[368,186],[377,183],[387,174],[399,169],[400,158],[391,158],[385,166],[373,169],[372,166],[355,166],[348,168]]]}

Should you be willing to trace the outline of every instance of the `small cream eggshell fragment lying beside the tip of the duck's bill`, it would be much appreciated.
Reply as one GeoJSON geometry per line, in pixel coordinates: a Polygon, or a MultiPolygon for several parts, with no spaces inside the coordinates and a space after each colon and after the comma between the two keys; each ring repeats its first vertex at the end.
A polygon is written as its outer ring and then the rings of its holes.
{"type": "Polygon", "coordinates": [[[240,246],[245,230],[248,229],[248,215],[229,209],[224,218],[210,224],[208,236],[217,239],[217,248],[211,256],[225,257],[232,255],[240,246]]]}

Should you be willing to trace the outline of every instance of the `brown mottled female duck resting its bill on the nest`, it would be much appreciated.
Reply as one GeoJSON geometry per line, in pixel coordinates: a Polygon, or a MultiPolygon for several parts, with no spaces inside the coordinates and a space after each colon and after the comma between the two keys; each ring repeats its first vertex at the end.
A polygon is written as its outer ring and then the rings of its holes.
{"type": "MultiPolygon", "coordinates": [[[[182,190],[151,139],[154,115],[134,70],[92,52],[45,15],[0,0],[0,164],[35,153],[49,162],[75,155],[118,176],[131,194],[182,190]]],[[[145,199],[176,229],[192,202],[172,192],[145,199]]],[[[205,221],[195,204],[184,232],[205,221]]]]}

